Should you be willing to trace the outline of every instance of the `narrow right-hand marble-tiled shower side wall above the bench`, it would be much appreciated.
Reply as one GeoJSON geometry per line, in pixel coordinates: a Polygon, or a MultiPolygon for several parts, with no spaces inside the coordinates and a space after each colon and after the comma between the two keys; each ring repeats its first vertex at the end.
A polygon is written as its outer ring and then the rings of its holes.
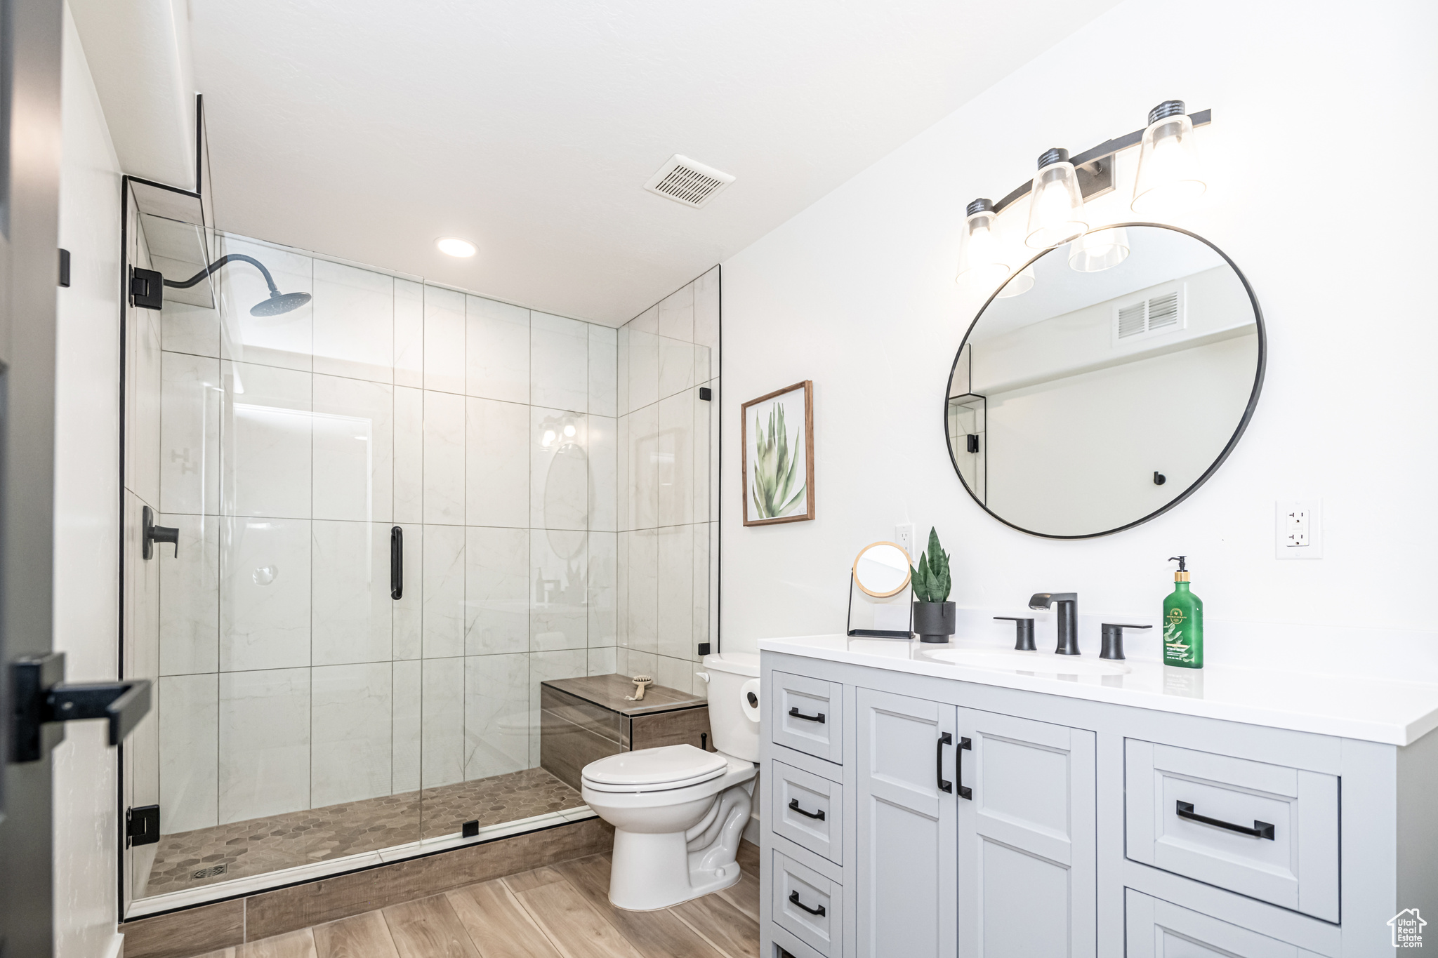
{"type": "Polygon", "coordinates": [[[719,267],[620,327],[618,409],[620,671],[703,695],[699,645],[719,616],[719,267]]]}

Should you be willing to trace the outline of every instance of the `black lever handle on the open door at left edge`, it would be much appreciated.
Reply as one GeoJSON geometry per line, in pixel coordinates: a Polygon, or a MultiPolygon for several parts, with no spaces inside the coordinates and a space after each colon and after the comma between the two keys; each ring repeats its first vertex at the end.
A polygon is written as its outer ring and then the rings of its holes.
{"type": "Polygon", "coordinates": [[[150,712],[150,681],[65,684],[65,652],[10,664],[10,761],[39,761],[65,740],[60,722],[104,718],[109,744],[118,745],[150,712]]]}

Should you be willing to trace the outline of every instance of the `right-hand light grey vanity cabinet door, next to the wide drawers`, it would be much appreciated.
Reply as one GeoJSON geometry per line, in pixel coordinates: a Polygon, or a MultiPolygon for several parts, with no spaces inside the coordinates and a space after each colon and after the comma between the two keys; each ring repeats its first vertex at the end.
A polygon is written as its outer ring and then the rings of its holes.
{"type": "Polygon", "coordinates": [[[1094,955],[1093,733],[961,708],[956,738],[959,955],[1094,955]]]}

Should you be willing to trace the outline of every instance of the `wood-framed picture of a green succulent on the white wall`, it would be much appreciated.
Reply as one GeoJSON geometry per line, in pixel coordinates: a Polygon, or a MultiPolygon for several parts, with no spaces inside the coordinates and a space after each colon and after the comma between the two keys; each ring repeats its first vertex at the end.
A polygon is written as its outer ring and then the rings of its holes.
{"type": "Polygon", "coordinates": [[[743,524],[814,518],[814,382],[775,389],[739,408],[743,524]]]}

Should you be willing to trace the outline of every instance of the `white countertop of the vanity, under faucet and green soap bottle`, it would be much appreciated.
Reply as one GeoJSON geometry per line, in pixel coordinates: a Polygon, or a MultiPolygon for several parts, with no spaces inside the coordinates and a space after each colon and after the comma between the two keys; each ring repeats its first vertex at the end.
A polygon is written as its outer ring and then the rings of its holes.
{"type": "MultiPolygon", "coordinates": [[[[976,642],[923,645],[905,639],[804,635],[761,639],[761,652],[784,652],[830,662],[867,665],[893,672],[933,675],[959,682],[1017,688],[1135,708],[1221,718],[1270,728],[1408,745],[1438,727],[1438,685],[1395,679],[1311,675],[1263,668],[1208,666],[1179,669],[1160,662],[1126,659],[1125,675],[1060,675],[1051,652],[1034,656],[1034,668],[978,668],[930,658],[935,649],[985,649],[976,642]]],[[[1084,655],[1086,659],[1097,656],[1084,655]]]]}

